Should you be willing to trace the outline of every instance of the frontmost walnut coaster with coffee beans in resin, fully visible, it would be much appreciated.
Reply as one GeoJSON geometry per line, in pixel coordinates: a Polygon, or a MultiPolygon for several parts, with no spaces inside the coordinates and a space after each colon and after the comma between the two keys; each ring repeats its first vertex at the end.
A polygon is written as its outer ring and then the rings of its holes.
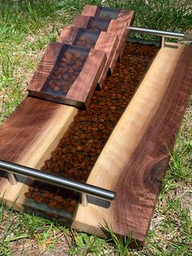
{"type": "Polygon", "coordinates": [[[51,43],[28,86],[29,95],[87,108],[106,60],[104,51],[51,43]]]}

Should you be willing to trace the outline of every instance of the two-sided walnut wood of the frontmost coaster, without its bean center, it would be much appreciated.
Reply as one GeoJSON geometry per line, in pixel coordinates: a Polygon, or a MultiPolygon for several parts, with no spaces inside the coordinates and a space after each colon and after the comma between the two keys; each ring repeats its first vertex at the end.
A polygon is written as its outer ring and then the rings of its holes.
{"type": "MultiPolygon", "coordinates": [[[[45,89],[49,88],[47,86],[45,87],[45,85],[48,79],[50,79],[50,74],[54,74],[53,68],[57,64],[57,59],[60,58],[59,55],[60,52],[63,51],[63,47],[67,47],[68,49],[69,46],[56,42],[51,43],[47,47],[46,53],[38,65],[37,71],[28,86],[28,92],[30,95],[41,99],[47,99],[60,104],[68,104],[79,108],[86,108],[89,105],[89,100],[97,86],[99,77],[103,72],[107,56],[104,51],[91,49],[81,72],[76,77],[76,80],[72,85],[69,86],[66,93],[55,93],[53,90],[45,89]]],[[[75,49],[74,51],[77,53],[85,51],[85,49],[78,46],[71,47],[73,50],[75,49]]]]}

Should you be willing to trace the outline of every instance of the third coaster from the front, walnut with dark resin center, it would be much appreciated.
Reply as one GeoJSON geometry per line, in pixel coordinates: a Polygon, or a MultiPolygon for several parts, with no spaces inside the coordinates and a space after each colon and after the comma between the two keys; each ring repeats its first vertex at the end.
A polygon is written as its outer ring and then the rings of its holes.
{"type": "MultiPolygon", "coordinates": [[[[130,24],[132,22],[133,15],[132,19],[130,20],[130,24]]],[[[112,71],[115,67],[116,60],[118,59],[118,57],[121,57],[124,52],[125,42],[129,37],[128,27],[130,24],[124,20],[111,20],[87,15],[76,15],[72,26],[83,29],[91,29],[94,31],[106,31],[107,33],[113,33],[114,36],[118,36],[119,42],[116,47],[116,54],[113,56],[110,64],[110,69],[112,71]]]]}

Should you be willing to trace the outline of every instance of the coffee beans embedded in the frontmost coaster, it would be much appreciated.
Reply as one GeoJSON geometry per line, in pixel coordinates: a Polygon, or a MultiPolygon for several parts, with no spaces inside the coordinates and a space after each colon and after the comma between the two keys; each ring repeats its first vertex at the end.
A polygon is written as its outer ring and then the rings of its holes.
{"type": "Polygon", "coordinates": [[[66,51],[50,74],[46,88],[48,86],[51,90],[66,94],[81,72],[85,60],[86,56],[78,51],[66,51]]]}

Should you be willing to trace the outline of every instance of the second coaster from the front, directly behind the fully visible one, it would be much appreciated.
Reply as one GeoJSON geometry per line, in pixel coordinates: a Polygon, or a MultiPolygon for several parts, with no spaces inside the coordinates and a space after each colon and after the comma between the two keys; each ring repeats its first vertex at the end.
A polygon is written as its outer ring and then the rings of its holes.
{"type": "MultiPolygon", "coordinates": [[[[94,48],[96,50],[105,51],[107,54],[107,61],[103,68],[103,73],[99,78],[98,84],[100,88],[107,76],[110,66],[114,67],[116,64],[116,53],[119,39],[115,33],[106,33],[92,31],[90,29],[82,29],[77,27],[64,27],[59,36],[59,42],[71,45],[80,45],[84,47],[94,48]],[[115,57],[115,58],[114,58],[115,57]],[[114,64],[112,62],[115,61],[114,64]]],[[[111,70],[112,72],[112,70],[111,70]]]]}

